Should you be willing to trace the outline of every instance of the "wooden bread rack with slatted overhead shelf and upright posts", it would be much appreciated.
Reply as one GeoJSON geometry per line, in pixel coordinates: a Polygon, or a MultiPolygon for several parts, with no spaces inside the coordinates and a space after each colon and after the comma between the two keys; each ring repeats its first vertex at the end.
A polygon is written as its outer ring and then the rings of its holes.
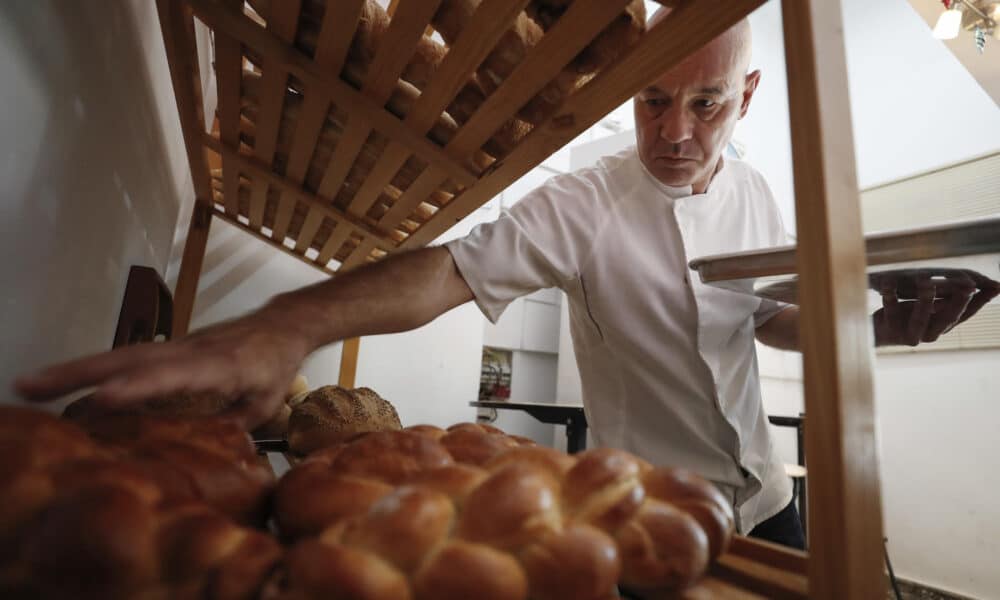
{"type": "MultiPolygon", "coordinates": [[[[272,1],[266,26],[244,14],[239,0],[157,0],[196,196],[175,291],[175,335],[187,330],[214,219],[330,275],[424,246],[765,0],[667,2],[674,6],[669,18],[485,168],[469,157],[627,2],[576,0],[441,145],[428,131],[527,0],[482,0],[430,84],[400,118],[385,108],[386,101],[439,1],[393,2],[387,33],[393,43],[378,49],[358,89],[337,74],[362,0],[328,0],[311,58],[293,45],[302,0],[272,1]],[[215,39],[218,109],[211,130],[204,127],[194,18],[215,39]],[[250,55],[261,74],[252,147],[242,143],[240,131],[241,71],[250,55]],[[279,169],[275,152],[290,81],[296,82],[302,102],[294,143],[279,169]],[[345,111],[346,125],[320,185],[308,189],[306,172],[331,110],[345,111]],[[387,142],[353,196],[337,204],[373,132],[387,142]],[[420,163],[419,176],[405,189],[394,188],[394,176],[413,157],[420,163]],[[213,180],[213,170],[219,169],[213,180]]],[[[740,539],[703,589],[714,594],[710,597],[881,600],[886,586],[864,246],[840,5],[828,0],[785,0],[782,5],[798,266],[806,290],[801,338],[812,424],[806,432],[812,553],[806,561],[794,552],[740,539]]]]}

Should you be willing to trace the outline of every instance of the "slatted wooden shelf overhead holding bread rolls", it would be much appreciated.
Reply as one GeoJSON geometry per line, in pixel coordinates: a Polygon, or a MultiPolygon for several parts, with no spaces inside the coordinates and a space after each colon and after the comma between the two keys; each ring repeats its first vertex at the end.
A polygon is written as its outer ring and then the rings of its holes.
{"type": "Polygon", "coordinates": [[[423,246],[762,0],[674,4],[162,0],[198,201],[331,274],[423,246]]]}

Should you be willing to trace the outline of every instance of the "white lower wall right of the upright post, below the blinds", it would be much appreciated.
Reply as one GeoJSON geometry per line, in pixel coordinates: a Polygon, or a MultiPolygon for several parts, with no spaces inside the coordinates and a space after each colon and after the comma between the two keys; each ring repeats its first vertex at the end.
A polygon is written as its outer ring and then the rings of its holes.
{"type": "Polygon", "coordinates": [[[1000,355],[880,355],[882,503],[900,577],[972,598],[1000,591],[1000,355]]]}

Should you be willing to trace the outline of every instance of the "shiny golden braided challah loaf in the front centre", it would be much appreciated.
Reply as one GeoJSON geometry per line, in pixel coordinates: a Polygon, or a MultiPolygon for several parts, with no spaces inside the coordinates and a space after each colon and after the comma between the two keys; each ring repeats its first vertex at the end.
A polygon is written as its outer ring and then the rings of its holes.
{"type": "Polygon", "coordinates": [[[711,484],[626,452],[417,426],[310,455],[278,484],[289,598],[596,600],[683,588],[723,552],[711,484]]]}

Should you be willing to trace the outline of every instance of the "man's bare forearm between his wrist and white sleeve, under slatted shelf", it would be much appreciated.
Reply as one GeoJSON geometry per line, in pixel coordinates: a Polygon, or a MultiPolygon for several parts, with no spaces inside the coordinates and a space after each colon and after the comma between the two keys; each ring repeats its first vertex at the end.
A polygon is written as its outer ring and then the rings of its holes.
{"type": "Polygon", "coordinates": [[[437,247],[282,294],[262,312],[281,315],[315,349],[350,337],[408,331],[472,298],[451,253],[437,247]]]}

